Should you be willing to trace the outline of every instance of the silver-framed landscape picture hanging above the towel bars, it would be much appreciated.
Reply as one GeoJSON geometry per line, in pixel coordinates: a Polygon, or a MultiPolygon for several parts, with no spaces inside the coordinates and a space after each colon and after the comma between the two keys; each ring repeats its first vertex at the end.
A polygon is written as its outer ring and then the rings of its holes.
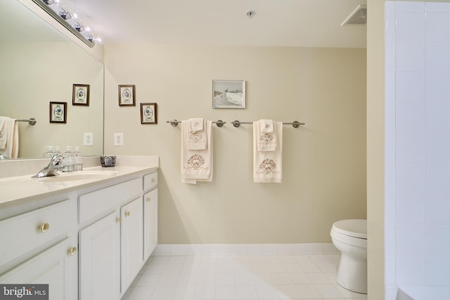
{"type": "Polygon", "coordinates": [[[245,108],[245,81],[213,80],[212,108],[245,108]]]}

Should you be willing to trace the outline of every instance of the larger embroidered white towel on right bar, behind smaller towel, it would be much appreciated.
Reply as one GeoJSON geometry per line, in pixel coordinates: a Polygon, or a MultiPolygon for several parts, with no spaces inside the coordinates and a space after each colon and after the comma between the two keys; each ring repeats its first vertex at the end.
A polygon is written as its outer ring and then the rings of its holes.
{"type": "Polygon", "coordinates": [[[278,140],[275,151],[258,151],[259,122],[253,122],[253,181],[255,183],[281,183],[283,153],[283,122],[274,122],[278,140]]]}

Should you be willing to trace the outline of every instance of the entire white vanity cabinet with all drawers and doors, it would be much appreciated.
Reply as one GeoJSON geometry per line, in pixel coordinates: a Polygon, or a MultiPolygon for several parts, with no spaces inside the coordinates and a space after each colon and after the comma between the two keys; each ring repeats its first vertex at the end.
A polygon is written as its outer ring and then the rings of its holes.
{"type": "Polygon", "coordinates": [[[0,220],[0,283],[49,284],[51,300],[119,300],[158,243],[156,168],[122,169],[13,207],[0,220]]]}

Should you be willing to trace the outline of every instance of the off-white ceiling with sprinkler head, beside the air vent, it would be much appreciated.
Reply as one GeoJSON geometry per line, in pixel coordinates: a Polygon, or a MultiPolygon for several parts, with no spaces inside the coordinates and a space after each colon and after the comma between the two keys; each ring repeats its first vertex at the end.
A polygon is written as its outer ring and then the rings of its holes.
{"type": "Polygon", "coordinates": [[[366,0],[65,0],[108,42],[366,48],[366,0]],[[248,18],[246,11],[255,11],[248,18]]]}

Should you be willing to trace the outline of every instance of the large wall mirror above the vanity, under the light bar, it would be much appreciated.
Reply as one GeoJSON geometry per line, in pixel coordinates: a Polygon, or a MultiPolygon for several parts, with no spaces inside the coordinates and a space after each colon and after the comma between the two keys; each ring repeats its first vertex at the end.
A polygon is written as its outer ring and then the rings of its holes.
{"type": "Polygon", "coordinates": [[[16,0],[0,0],[0,53],[0,116],[37,120],[18,122],[19,158],[43,157],[49,145],[103,153],[101,62],[16,0]],[[74,84],[89,86],[89,105],[72,104],[74,84]],[[65,123],[50,122],[51,102],[67,103],[65,123]]]}

